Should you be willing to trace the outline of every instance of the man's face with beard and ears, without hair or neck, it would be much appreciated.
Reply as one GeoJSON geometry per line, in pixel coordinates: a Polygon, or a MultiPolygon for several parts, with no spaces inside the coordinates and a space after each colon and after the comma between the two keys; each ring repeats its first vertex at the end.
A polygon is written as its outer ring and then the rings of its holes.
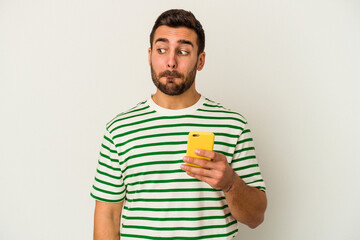
{"type": "Polygon", "coordinates": [[[205,53],[197,56],[194,30],[160,26],[149,49],[151,77],[155,86],[167,95],[180,95],[195,81],[196,71],[203,68],[205,53]]]}

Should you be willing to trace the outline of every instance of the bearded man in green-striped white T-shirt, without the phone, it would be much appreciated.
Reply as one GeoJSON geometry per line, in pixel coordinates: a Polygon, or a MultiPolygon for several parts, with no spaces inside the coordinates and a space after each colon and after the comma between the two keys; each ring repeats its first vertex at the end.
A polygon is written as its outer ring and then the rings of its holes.
{"type": "Polygon", "coordinates": [[[263,221],[265,185],[246,120],[195,89],[204,46],[192,13],[156,20],[148,54],[157,91],[107,124],[91,193],[94,239],[231,239],[237,222],[263,221]],[[196,151],[211,161],[185,156],[190,131],[215,134],[214,151],[196,151]]]}

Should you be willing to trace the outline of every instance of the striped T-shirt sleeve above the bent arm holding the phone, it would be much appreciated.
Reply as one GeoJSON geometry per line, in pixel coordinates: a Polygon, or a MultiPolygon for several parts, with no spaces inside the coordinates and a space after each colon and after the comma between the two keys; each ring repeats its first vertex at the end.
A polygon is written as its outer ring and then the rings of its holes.
{"type": "Polygon", "coordinates": [[[266,190],[255,155],[254,141],[247,123],[237,141],[231,167],[247,185],[266,190]]]}

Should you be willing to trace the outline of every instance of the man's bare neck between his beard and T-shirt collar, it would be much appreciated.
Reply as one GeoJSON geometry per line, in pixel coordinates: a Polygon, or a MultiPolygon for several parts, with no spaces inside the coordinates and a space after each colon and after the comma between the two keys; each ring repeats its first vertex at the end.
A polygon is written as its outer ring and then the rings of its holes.
{"type": "Polygon", "coordinates": [[[160,107],[177,110],[194,105],[197,101],[199,101],[201,95],[195,90],[195,88],[190,88],[183,94],[176,96],[167,95],[157,89],[156,93],[151,97],[160,107]]]}

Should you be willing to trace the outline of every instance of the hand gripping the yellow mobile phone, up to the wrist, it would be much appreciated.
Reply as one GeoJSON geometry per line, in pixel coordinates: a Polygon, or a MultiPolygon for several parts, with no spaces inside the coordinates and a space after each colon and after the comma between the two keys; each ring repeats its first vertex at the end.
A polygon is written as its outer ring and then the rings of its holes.
{"type": "Polygon", "coordinates": [[[185,156],[183,158],[184,162],[200,167],[182,164],[180,168],[186,171],[189,176],[208,183],[212,188],[226,191],[233,184],[235,173],[227,162],[225,155],[202,149],[196,149],[195,153],[210,158],[211,161],[185,156]]]}

